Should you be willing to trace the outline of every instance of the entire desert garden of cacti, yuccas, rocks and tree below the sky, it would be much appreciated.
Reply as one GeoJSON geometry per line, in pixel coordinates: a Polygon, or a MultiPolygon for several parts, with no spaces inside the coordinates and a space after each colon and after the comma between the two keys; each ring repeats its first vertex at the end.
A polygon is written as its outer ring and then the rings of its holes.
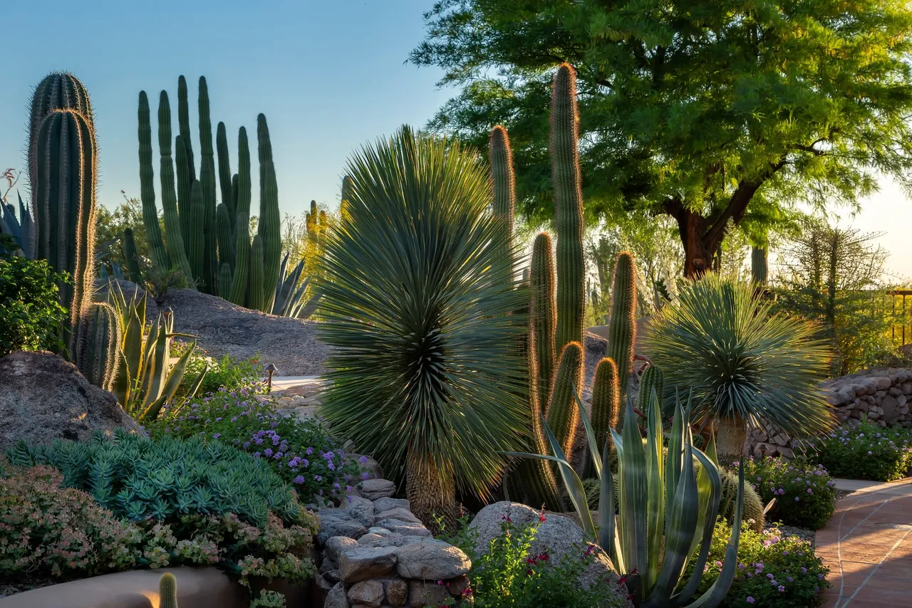
{"type": "Polygon", "coordinates": [[[907,605],[906,285],[821,201],[908,180],[912,12],[590,4],[435,5],[461,96],[301,218],[205,77],[137,92],[119,206],[91,83],[38,82],[0,608],[907,605]]]}

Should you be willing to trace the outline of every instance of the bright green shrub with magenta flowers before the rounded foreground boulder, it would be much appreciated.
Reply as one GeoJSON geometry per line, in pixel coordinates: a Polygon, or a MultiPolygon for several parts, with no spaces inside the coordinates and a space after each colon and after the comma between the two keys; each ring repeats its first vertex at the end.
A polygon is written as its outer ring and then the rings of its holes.
{"type": "MultiPolygon", "coordinates": [[[[544,513],[540,519],[544,521],[544,513]]],[[[594,562],[595,546],[579,548],[579,560],[553,562],[547,552],[530,555],[537,525],[515,529],[504,516],[503,533],[491,542],[488,551],[478,551],[477,533],[466,528],[451,542],[472,559],[471,586],[462,593],[461,603],[448,600],[444,605],[474,605],[477,608],[617,608],[627,606],[627,589],[599,582],[581,589],[577,579],[594,562]],[[473,604],[472,604],[473,602],[473,604]]]]}

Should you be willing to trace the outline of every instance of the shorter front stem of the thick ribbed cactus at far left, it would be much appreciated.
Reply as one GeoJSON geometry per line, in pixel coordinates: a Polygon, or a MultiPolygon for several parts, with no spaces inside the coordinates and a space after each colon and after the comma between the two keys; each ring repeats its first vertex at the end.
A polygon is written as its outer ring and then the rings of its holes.
{"type": "Polygon", "coordinates": [[[92,123],[76,110],[52,110],[35,138],[33,207],[37,259],[70,274],[60,302],[69,309],[64,338],[76,356],[78,325],[91,303],[95,278],[95,188],[98,148],[92,123]]]}

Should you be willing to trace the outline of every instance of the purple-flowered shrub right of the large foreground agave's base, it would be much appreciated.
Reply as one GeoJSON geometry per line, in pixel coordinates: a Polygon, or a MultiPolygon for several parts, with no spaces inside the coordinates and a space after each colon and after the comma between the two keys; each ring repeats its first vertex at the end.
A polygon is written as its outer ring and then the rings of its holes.
{"type": "MultiPolygon", "coordinates": [[[[708,590],[719,578],[729,536],[731,526],[720,520],[712,535],[699,593],[708,590]]],[[[691,560],[682,581],[689,579],[693,568],[691,560]]],[[[720,608],[744,608],[751,604],[757,608],[819,606],[824,599],[822,591],[830,586],[826,582],[828,572],[823,560],[814,557],[810,542],[796,536],[784,538],[777,529],[758,533],[745,524],[741,528],[735,578],[720,608]]]]}

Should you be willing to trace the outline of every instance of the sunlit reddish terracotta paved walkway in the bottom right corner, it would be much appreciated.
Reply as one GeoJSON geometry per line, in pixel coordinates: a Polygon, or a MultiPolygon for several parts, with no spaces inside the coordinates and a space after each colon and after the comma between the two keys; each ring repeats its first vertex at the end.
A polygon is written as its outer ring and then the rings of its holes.
{"type": "Polygon", "coordinates": [[[912,606],[912,481],[860,489],[817,531],[833,588],[824,608],[912,606]]]}

